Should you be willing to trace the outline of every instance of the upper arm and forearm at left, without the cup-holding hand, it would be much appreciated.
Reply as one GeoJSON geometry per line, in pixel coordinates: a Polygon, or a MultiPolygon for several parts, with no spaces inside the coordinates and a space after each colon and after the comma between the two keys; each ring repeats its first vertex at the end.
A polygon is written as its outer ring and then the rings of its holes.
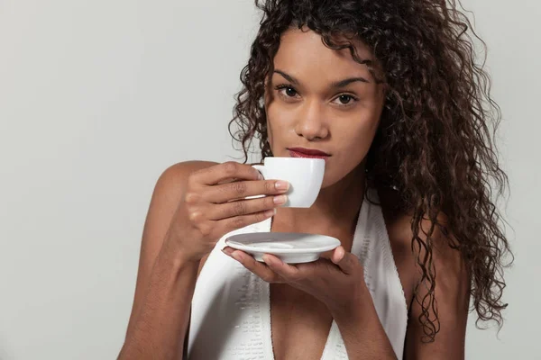
{"type": "MultiPolygon", "coordinates": [[[[168,168],[152,194],[142,234],[133,309],[119,359],[179,358],[188,330],[199,262],[184,261],[164,239],[188,174],[213,163],[168,168]]],[[[204,259],[201,261],[201,263],[204,259]]]]}

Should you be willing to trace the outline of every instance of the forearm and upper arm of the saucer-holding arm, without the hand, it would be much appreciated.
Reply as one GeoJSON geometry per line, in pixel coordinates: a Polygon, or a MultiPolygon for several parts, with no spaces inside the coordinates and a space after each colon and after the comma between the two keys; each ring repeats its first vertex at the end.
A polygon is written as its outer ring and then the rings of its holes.
{"type": "MultiPolygon", "coordinates": [[[[403,234],[391,231],[395,241],[409,244],[413,234],[409,230],[409,219],[404,223],[403,234]]],[[[445,218],[438,219],[445,224],[445,218]]],[[[397,222],[400,223],[399,221],[397,222]]],[[[428,220],[422,223],[425,234],[430,228],[428,220]]],[[[402,228],[399,226],[399,228],[402,228]]],[[[433,238],[433,261],[436,266],[436,301],[440,329],[433,343],[422,341],[423,327],[419,321],[421,306],[414,300],[410,306],[408,329],[406,334],[404,358],[411,360],[445,360],[463,359],[465,329],[469,304],[470,277],[460,253],[447,245],[448,239],[437,228],[433,238]]],[[[407,246],[409,248],[409,246],[407,246]]],[[[402,250],[408,251],[408,250],[402,250]]],[[[412,268],[406,272],[415,271],[415,260],[412,259],[412,268]]],[[[417,281],[420,280],[420,275],[417,281]]],[[[405,276],[406,278],[408,276],[405,276]]],[[[409,283],[409,282],[408,282],[409,283]]],[[[423,299],[426,288],[419,287],[419,299],[423,299]]],[[[357,358],[396,358],[390,346],[381,322],[373,306],[371,296],[365,286],[356,305],[334,311],[336,324],[344,338],[344,344],[351,359],[357,358]],[[370,305],[368,305],[370,304],[370,305]],[[355,357],[356,356],[356,357],[355,357]]],[[[435,319],[430,312],[429,318],[435,319]]]]}

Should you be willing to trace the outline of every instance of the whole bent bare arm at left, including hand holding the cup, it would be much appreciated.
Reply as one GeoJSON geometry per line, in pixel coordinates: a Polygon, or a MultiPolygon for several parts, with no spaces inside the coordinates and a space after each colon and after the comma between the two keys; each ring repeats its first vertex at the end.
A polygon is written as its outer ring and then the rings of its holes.
{"type": "Polygon", "coordinates": [[[160,176],[142,238],[132,316],[120,359],[178,359],[197,267],[219,238],[274,214],[287,191],[252,166],[188,162],[160,176]],[[254,195],[269,195],[250,199],[254,195]]]}

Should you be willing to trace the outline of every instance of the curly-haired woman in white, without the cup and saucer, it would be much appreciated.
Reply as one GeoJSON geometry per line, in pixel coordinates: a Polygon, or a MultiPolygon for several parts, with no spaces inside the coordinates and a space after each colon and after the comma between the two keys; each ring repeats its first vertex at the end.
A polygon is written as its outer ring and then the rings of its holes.
{"type": "Polygon", "coordinates": [[[245,163],[167,169],[120,358],[463,358],[470,300],[500,324],[509,251],[491,199],[507,184],[499,109],[469,23],[443,0],[256,4],[235,139],[245,156],[254,138],[263,158],[318,150],[322,189],[293,209],[280,207],[289,184],[245,163]],[[313,263],[258,263],[225,247],[234,230],[342,245],[313,263]]]}

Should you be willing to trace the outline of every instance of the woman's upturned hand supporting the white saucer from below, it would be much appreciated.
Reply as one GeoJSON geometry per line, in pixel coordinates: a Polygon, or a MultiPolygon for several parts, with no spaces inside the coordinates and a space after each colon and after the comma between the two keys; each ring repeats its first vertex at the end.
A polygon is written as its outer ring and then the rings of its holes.
{"type": "Polygon", "coordinates": [[[331,312],[349,311],[358,307],[368,293],[364,271],[358,257],[336,247],[329,256],[304,264],[286,264],[271,254],[263,255],[264,263],[232,247],[222,250],[267,283],[289,284],[309,293],[326,304],[331,312]]]}

